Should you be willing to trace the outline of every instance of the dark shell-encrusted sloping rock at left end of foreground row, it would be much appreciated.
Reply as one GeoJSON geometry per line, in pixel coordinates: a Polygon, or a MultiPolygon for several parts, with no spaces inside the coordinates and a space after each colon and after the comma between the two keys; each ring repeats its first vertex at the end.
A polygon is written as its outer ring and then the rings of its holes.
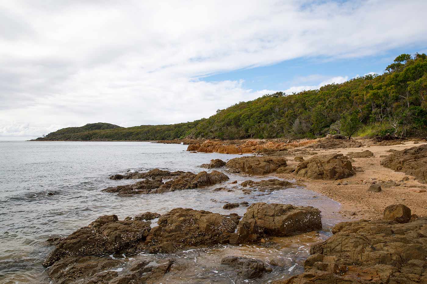
{"type": "Polygon", "coordinates": [[[151,222],[119,221],[116,215],[98,217],[89,226],[78,229],[61,240],[47,256],[44,267],[68,256],[101,255],[135,251],[138,242],[145,241],[151,222]]]}

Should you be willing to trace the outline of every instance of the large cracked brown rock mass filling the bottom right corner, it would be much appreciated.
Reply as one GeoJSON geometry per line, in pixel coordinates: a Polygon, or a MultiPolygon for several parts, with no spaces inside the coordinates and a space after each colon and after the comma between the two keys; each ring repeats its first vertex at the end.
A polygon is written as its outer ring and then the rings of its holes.
{"type": "Polygon", "coordinates": [[[273,283],[427,283],[427,218],[343,222],[332,232],[311,247],[304,273],[273,283]]]}

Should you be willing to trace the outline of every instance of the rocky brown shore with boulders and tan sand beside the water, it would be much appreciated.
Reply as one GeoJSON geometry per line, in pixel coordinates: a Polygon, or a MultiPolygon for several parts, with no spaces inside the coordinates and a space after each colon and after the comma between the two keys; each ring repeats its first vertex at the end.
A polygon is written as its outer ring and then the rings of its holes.
{"type": "Polygon", "coordinates": [[[123,219],[114,212],[99,216],[47,240],[46,277],[81,284],[427,283],[425,141],[187,142],[189,155],[234,158],[206,161],[198,173],[111,173],[109,180],[127,182],[102,192],[124,200],[188,190],[248,198],[215,200],[224,213],[190,207],[144,213],[140,206],[139,214],[123,219]],[[321,212],[275,202],[275,193],[292,188],[340,206],[321,212]]]}

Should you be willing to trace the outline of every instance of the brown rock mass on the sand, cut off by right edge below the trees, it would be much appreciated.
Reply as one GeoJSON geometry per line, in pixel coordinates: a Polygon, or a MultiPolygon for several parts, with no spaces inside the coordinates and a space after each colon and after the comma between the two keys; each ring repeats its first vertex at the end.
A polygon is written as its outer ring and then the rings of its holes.
{"type": "Polygon", "coordinates": [[[380,163],[386,168],[414,176],[420,183],[427,183],[427,144],[395,151],[380,163]]]}

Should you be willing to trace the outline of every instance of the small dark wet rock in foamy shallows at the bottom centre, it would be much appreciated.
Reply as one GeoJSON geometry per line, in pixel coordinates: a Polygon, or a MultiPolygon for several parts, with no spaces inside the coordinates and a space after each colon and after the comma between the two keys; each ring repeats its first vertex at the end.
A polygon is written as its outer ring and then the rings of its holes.
{"type": "Polygon", "coordinates": [[[222,258],[221,264],[236,269],[242,279],[259,278],[266,272],[266,264],[254,258],[227,256],[222,258]]]}

